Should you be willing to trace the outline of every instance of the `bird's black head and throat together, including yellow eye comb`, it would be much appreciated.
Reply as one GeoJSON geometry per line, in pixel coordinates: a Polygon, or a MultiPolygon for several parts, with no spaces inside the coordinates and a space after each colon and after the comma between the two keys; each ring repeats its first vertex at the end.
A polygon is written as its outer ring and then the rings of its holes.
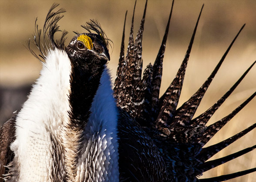
{"type": "Polygon", "coordinates": [[[71,118],[74,118],[74,123],[86,122],[92,99],[100,83],[102,71],[109,60],[108,49],[104,45],[101,36],[94,33],[83,33],[74,36],[67,46],[66,52],[71,60],[72,69],[71,118]],[[86,46],[86,41],[81,41],[79,37],[90,40],[92,47],[86,46]],[[86,112],[87,110],[88,112],[86,112]]]}

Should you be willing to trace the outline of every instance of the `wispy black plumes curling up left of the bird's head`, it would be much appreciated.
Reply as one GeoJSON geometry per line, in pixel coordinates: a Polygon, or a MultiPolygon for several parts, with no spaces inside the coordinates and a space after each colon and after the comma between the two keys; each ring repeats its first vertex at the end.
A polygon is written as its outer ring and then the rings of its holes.
{"type": "Polygon", "coordinates": [[[39,54],[34,52],[34,50],[30,47],[30,39],[27,41],[27,49],[34,55],[40,62],[44,62],[47,52],[50,49],[65,49],[65,40],[67,31],[63,30],[61,31],[59,29],[60,26],[57,25],[58,21],[63,18],[62,13],[65,13],[66,10],[63,8],[60,8],[56,12],[54,12],[54,9],[58,7],[59,4],[54,3],[50,10],[47,13],[47,16],[44,21],[44,27],[43,27],[43,36],[41,37],[42,29],[38,28],[37,24],[37,18],[35,21],[35,33],[34,33],[34,45],[37,46],[37,49],[39,50],[39,54]],[[62,32],[61,38],[54,40],[54,34],[56,32],[62,32]]]}

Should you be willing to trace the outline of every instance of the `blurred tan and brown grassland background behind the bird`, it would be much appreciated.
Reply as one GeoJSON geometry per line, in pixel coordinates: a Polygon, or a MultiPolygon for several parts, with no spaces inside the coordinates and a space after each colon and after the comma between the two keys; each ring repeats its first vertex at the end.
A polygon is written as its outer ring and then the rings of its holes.
{"type": "MultiPolygon", "coordinates": [[[[61,29],[84,32],[81,24],[90,19],[98,19],[108,38],[113,41],[110,49],[109,67],[113,78],[118,65],[121,35],[125,11],[128,10],[126,24],[126,47],[131,16],[135,0],[55,0],[67,10],[59,22],[61,29]]],[[[53,1],[0,0],[0,126],[19,109],[27,99],[30,85],[39,77],[40,62],[26,49],[26,41],[34,34],[34,21],[42,28],[44,19],[53,1]]],[[[145,0],[137,2],[135,10],[135,32],[138,30],[145,0]]],[[[176,0],[172,13],[166,53],[163,66],[162,94],[171,83],[184,58],[185,51],[195,26],[202,4],[205,3],[199,22],[194,45],[189,58],[184,85],[178,107],[192,96],[209,76],[222,57],[226,48],[246,23],[230,50],[222,67],[212,81],[202,99],[195,117],[214,104],[236,82],[243,72],[256,60],[256,1],[255,0],[176,0]]],[[[149,0],[143,35],[143,69],[154,62],[171,9],[171,0],[149,0]]],[[[225,117],[256,91],[256,66],[214,114],[208,125],[225,117]]],[[[214,136],[208,145],[249,127],[256,121],[256,99],[254,98],[225,127],[214,136]]],[[[255,145],[256,130],[216,154],[215,158],[226,156],[238,150],[255,145]]],[[[213,158],[212,158],[213,159],[213,158]]],[[[256,151],[232,160],[208,172],[203,177],[223,175],[256,167],[256,151]]],[[[254,182],[256,172],[229,180],[230,182],[254,182]]]]}

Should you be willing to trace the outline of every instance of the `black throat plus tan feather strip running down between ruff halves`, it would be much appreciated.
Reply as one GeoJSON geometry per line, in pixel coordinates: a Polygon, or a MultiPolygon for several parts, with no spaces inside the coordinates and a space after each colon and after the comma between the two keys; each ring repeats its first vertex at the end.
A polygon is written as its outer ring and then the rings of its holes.
{"type": "MultiPolygon", "coordinates": [[[[90,68],[89,66],[75,65],[71,60],[70,75],[70,113],[67,123],[63,123],[62,141],[64,151],[67,181],[77,178],[78,153],[81,151],[84,140],[84,129],[91,114],[91,105],[98,90],[104,67],[90,68]]],[[[78,175],[80,176],[80,175],[78,175]]]]}

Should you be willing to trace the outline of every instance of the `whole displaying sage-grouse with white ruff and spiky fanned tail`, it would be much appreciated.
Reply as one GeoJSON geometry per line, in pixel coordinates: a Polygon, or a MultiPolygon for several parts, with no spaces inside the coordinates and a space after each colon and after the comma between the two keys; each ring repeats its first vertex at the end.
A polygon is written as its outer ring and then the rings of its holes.
{"type": "MultiPolygon", "coordinates": [[[[136,4],[136,3],[135,3],[136,4]]],[[[212,114],[243,80],[255,62],[208,110],[193,118],[197,107],[219,70],[239,30],[202,87],[177,108],[199,18],[185,58],[168,89],[159,97],[162,61],[171,13],[158,55],[142,73],[142,35],[147,2],[136,39],[133,20],[125,56],[123,31],[121,53],[112,90],[106,63],[109,39],[97,20],[82,27],[66,47],[66,31],[54,39],[64,9],[49,10],[43,30],[35,24],[33,43],[27,47],[43,68],[27,101],[0,129],[0,174],[7,182],[219,182],[256,168],[209,179],[203,172],[253,150],[243,149],[220,159],[213,155],[256,127],[212,146],[204,147],[249,101],[209,126],[212,114]],[[193,118],[193,119],[192,119],[193,118]]],[[[173,6],[173,3],[172,3],[173,6]]],[[[125,15],[126,17],[126,15],[125,15]]],[[[125,30],[125,26],[124,26],[125,30]]]]}

